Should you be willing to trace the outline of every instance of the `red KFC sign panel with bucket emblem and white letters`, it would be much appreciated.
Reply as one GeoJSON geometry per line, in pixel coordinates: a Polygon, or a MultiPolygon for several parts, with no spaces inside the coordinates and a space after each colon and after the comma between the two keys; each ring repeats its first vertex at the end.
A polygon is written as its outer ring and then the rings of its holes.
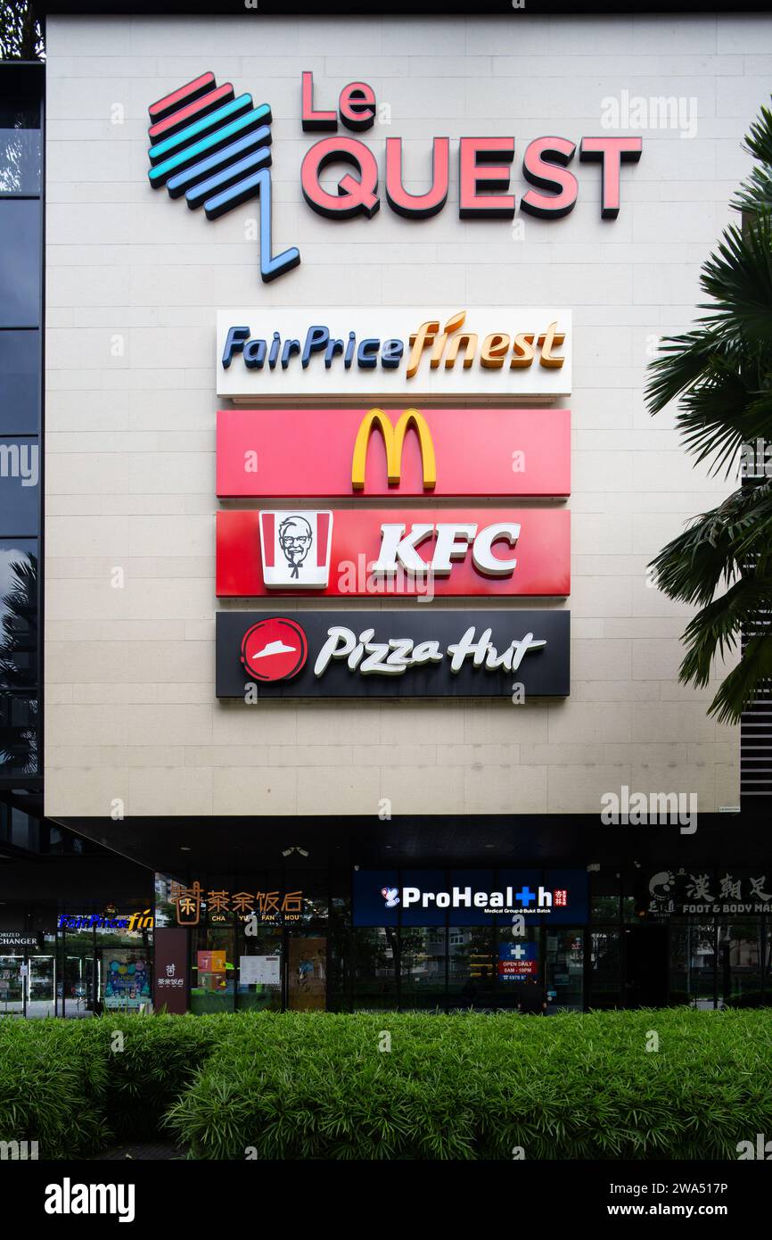
{"type": "Polygon", "coordinates": [[[217,513],[218,598],[569,593],[565,508],[217,513]]]}

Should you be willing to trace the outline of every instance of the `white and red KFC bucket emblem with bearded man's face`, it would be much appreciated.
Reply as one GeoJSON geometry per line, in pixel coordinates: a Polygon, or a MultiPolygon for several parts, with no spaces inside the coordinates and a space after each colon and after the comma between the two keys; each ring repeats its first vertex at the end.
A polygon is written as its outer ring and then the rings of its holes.
{"type": "Polygon", "coordinates": [[[260,513],[260,552],[266,587],[326,589],[331,546],[331,512],[260,513]]]}

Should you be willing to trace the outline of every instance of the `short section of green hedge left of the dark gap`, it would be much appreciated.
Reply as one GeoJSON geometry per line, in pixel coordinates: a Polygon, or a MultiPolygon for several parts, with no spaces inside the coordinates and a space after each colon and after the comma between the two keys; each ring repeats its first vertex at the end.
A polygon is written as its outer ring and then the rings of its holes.
{"type": "Polygon", "coordinates": [[[87,1021],[0,1021],[0,1141],[37,1141],[40,1158],[107,1145],[108,1064],[87,1021]]]}

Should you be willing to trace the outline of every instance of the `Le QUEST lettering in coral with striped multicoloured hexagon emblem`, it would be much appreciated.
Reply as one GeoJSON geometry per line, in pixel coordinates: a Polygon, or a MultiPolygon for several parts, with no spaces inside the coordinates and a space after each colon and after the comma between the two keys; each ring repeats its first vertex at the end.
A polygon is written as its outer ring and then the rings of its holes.
{"type": "MultiPolygon", "coordinates": [[[[338,122],[349,133],[372,129],[377,119],[375,92],[367,82],[349,82],[340,92],[337,110],[320,107],[314,76],[301,78],[304,133],[328,133],[304,155],[300,167],[302,196],[309,207],[328,219],[372,218],[380,210],[378,159],[362,138],[338,134],[338,122]],[[333,165],[348,171],[335,191],[322,185],[333,165]]],[[[300,263],[292,246],[271,255],[271,109],[254,105],[248,93],[237,95],[230,82],[217,86],[213,73],[192,82],[149,108],[150,171],[154,188],[166,186],[171,197],[185,196],[187,206],[203,206],[209,219],[250,198],[260,201],[260,274],[274,280],[300,263]]],[[[638,136],[580,139],[580,162],[600,165],[601,217],[620,212],[623,162],[641,159],[638,136]]],[[[512,219],[515,197],[509,192],[515,140],[512,135],[457,139],[458,216],[461,219],[512,219]]],[[[519,210],[543,219],[568,216],[579,197],[579,181],[569,164],[576,143],[545,136],[528,143],[523,179],[530,188],[519,210]]],[[[424,193],[404,186],[403,139],[385,139],[385,200],[405,219],[428,219],[445,207],[450,188],[451,139],[431,139],[431,184],[424,193]]]]}

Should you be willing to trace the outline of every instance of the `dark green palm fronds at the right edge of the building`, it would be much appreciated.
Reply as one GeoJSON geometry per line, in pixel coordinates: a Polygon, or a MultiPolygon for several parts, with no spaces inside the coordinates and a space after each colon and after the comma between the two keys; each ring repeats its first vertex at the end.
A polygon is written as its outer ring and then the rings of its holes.
{"type": "MultiPolygon", "coordinates": [[[[748,445],[772,441],[772,112],[761,109],[745,141],[756,165],[729,227],[704,264],[710,301],[695,327],[663,341],[649,365],[652,414],[679,399],[677,425],[688,453],[725,476],[748,445]]],[[[765,458],[766,460],[766,458],[765,458]]],[[[683,683],[708,684],[714,658],[740,647],[709,713],[737,723],[772,678],[772,466],[724,503],[694,518],[652,563],[669,598],[696,605],[683,634],[683,683]]]]}

